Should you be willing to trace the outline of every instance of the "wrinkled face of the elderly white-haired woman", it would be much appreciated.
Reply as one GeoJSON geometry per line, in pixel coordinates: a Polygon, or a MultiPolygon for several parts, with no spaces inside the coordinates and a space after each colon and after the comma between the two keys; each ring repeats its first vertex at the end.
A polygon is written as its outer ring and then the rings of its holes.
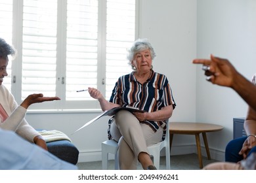
{"type": "Polygon", "coordinates": [[[132,64],[134,67],[136,67],[138,73],[149,71],[152,65],[150,50],[143,50],[135,54],[132,64]]]}

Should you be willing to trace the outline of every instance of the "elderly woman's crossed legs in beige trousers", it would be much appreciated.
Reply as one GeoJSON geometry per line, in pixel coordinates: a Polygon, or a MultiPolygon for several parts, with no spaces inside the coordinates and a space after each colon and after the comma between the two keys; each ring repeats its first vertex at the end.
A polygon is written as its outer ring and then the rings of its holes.
{"type": "Polygon", "coordinates": [[[118,159],[120,169],[137,169],[139,160],[143,169],[153,165],[147,146],[161,141],[163,129],[154,132],[148,125],[126,110],[117,112],[111,124],[110,133],[118,142],[118,159]]]}

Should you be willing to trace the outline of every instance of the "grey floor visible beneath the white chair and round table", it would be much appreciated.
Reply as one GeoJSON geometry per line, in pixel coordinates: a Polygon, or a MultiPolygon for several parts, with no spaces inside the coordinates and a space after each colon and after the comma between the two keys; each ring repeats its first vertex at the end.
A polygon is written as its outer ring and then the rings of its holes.
{"type": "MultiPolygon", "coordinates": [[[[206,157],[202,157],[203,166],[213,163],[216,160],[207,159],[206,157]]],[[[86,162],[86,163],[77,163],[77,167],[80,170],[100,170],[102,169],[101,161],[94,162],[86,162]]],[[[114,169],[114,160],[108,161],[108,169],[114,169]]],[[[139,164],[137,169],[142,169],[139,164]]],[[[160,169],[165,169],[165,157],[161,157],[160,159],[160,169]]],[[[185,154],[185,155],[177,155],[171,156],[171,170],[200,170],[199,168],[199,160],[197,154],[185,154]]]]}

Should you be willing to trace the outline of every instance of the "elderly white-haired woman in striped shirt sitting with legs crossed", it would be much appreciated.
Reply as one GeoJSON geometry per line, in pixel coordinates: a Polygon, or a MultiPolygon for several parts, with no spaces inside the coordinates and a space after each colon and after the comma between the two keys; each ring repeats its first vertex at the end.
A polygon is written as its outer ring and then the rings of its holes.
{"type": "Polygon", "coordinates": [[[150,42],[139,39],[127,55],[133,72],[118,78],[110,101],[100,91],[89,88],[91,97],[98,99],[103,111],[114,107],[146,111],[119,110],[109,121],[108,137],[118,142],[120,169],[137,169],[137,160],[143,169],[156,169],[147,146],[165,139],[166,120],[176,106],[167,77],[152,69],[155,57],[150,42]]]}

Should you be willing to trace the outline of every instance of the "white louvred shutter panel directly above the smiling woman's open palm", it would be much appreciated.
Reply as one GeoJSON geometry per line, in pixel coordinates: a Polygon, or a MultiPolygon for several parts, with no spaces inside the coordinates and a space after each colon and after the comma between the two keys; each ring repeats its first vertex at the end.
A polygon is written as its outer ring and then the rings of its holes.
{"type": "Polygon", "coordinates": [[[57,0],[24,0],[22,99],[56,95],[56,33],[57,0]]]}

